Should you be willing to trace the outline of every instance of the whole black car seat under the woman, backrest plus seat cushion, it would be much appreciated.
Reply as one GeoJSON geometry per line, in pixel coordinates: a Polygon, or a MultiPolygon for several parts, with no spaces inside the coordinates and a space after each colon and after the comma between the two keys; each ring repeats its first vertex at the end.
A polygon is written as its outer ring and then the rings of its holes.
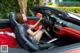
{"type": "Polygon", "coordinates": [[[19,24],[16,21],[16,14],[11,12],[9,15],[9,21],[10,24],[15,32],[17,41],[19,45],[26,49],[31,51],[38,51],[41,49],[47,49],[53,44],[37,44],[35,40],[32,40],[31,37],[26,33],[26,29],[24,25],[19,24]]]}

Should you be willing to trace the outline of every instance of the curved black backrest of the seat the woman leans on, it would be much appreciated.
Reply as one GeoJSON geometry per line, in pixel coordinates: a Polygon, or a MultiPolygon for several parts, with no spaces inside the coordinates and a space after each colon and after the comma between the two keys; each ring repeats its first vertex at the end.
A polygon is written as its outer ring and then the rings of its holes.
{"type": "Polygon", "coordinates": [[[28,41],[29,37],[27,36],[24,26],[19,24],[16,21],[16,13],[13,13],[13,12],[10,13],[9,21],[11,23],[11,27],[14,29],[17,41],[22,48],[27,49],[27,50],[39,50],[39,46],[35,45],[35,43],[33,43],[32,40],[30,40],[32,41],[32,43],[28,41]]]}

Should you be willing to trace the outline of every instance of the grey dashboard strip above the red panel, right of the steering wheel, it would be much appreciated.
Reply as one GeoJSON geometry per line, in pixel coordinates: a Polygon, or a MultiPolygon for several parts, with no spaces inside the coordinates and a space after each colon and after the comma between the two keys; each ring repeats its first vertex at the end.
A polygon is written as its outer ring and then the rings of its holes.
{"type": "Polygon", "coordinates": [[[63,19],[59,18],[58,16],[56,16],[54,14],[52,14],[51,17],[53,19],[56,19],[55,25],[61,25],[62,27],[70,27],[70,28],[73,28],[73,29],[76,29],[76,30],[79,30],[80,31],[80,26],[77,25],[77,24],[74,24],[72,22],[63,20],[63,19]]]}

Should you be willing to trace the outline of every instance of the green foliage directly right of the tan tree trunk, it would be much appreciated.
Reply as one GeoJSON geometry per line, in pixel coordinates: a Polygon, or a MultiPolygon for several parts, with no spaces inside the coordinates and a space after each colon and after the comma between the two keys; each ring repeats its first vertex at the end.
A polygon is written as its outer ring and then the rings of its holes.
{"type": "Polygon", "coordinates": [[[27,12],[28,12],[28,15],[30,15],[31,11],[30,9],[32,9],[33,7],[35,6],[42,6],[44,4],[43,2],[44,0],[28,0],[27,1],[27,12]]]}

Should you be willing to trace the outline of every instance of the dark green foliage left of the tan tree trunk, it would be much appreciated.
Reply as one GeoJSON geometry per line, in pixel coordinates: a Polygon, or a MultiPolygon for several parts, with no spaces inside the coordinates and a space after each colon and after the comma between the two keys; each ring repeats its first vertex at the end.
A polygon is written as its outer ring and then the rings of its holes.
{"type": "Polygon", "coordinates": [[[18,9],[16,0],[0,0],[0,18],[7,18],[7,13],[18,12],[18,9]]]}

